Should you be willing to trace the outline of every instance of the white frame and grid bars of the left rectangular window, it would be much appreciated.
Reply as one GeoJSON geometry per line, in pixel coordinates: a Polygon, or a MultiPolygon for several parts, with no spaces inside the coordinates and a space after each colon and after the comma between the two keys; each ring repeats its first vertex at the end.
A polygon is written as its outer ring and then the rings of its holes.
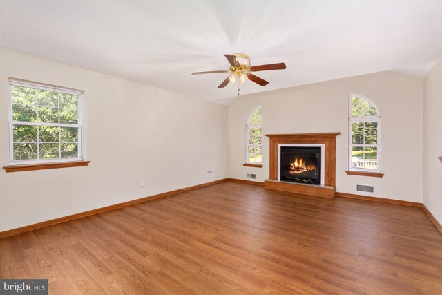
{"type": "MultiPolygon", "coordinates": [[[[71,91],[64,88],[59,88],[57,86],[42,86],[37,83],[30,83],[30,82],[15,82],[10,81],[10,108],[9,108],[9,164],[12,165],[21,165],[21,164],[44,164],[44,163],[56,163],[56,162],[75,162],[75,161],[81,161],[83,160],[82,157],[82,97],[83,93],[81,91],[71,91]],[[37,91],[35,93],[36,96],[36,104],[32,104],[32,106],[36,107],[36,120],[37,122],[22,122],[22,121],[15,121],[12,120],[12,105],[16,104],[12,102],[12,86],[22,86],[26,88],[33,88],[43,91],[54,91],[57,92],[57,99],[58,99],[58,106],[44,106],[40,105],[38,101],[38,95],[37,91]],[[74,110],[74,108],[60,108],[60,93],[66,93],[70,95],[77,95],[77,124],[65,124],[65,123],[46,123],[46,122],[38,122],[39,118],[39,108],[56,108],[57,110],[74,110]],[[37,160],[14,160],[14,144],[17,142],[14,142],[14,125],[26,125],[26,126],[37,126],[37,142],[18,142],[18,143],[28,143],[28,144],[37,144],[37,160]],[[39,127],[40,126],[48,126],[48,127],[68,127],[68,128],[76,128],[78,130],[77,132],[77,142],[61,142],[61,129],[59,129],[59,141],[58,142],[40,142],[39,141],[39,127]],[[39,159],[39,145],[40,143],[44,144],[59,144],[59,158],[53,158],[53,159],[39,159]],[[78,157],[73,158],[61,158],[61,144],[77,144],[78,149],[78,157]]],[[[30,104],[17,104],[22,106],[29,106],[30,104]]],[[[57,121],[60,122],[60,111],[57,112],[57,121]]]]}

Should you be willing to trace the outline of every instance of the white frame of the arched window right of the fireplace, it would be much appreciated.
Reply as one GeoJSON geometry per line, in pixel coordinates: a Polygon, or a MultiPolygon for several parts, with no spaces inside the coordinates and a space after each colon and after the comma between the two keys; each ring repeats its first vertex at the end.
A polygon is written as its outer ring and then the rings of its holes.
{"type": "Polygon", "coordinates": [[[357,93],[349,93],[348,96],[348,131],[349,131],[349,156],[348,156],[348,169],[349,171],[355,171],[355,172],[371,172],[371,173],[380,173],[381,172],[381,114],[379,113],[379,108],[374,104],[372,99],[369,99],[365,95],[360,95],[357,93]],[[361,116],[361,117],[353,117],[352,111],[353,111],[353,104],[352,104],[352,98],[358,97],[365,99],[371,106],[374,107],[376,110],[377,115],[374,116],[361,116]],[[377,123],[377,144],[352,144],[352,124],[353,123],[363,123],[363,122],[376,122],[377,123]],[[355,168],[352,167],[352,147],[376,147],[377,148],[377,160],[378,160],[378,167],[377,169],[365,169],[365,168],[355,168]]]}

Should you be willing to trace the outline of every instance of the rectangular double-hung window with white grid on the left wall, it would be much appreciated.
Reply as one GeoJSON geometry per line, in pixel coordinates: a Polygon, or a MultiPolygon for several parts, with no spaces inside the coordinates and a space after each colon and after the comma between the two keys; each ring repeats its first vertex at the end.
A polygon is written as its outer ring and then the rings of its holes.
{"type": "Polygon", "coordinates": [[[80,161],[81,91],[10,81],[10,164],[80,161]]]}

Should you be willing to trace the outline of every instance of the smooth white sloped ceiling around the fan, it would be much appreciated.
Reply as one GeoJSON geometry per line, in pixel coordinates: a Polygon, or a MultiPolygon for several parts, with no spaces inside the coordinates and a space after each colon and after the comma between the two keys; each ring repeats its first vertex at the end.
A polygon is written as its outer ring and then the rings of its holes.
{"type": "Polygon", "coordinates": [[[225,53],[287,64],[246,94],[432,63],[441,36],[441,0],[0,0],[5,48],[221,103],[227,74],[191,72],[225,53]]]}

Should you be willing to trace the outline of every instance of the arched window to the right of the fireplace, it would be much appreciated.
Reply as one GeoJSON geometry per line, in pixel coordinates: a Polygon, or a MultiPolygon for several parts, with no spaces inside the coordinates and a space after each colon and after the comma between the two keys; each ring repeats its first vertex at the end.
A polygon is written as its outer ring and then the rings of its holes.
{"type": "Polygon", "coordinates": [[[381,117],[363,95],[349,95],[349,170],[380,170],[381,117]]]}

